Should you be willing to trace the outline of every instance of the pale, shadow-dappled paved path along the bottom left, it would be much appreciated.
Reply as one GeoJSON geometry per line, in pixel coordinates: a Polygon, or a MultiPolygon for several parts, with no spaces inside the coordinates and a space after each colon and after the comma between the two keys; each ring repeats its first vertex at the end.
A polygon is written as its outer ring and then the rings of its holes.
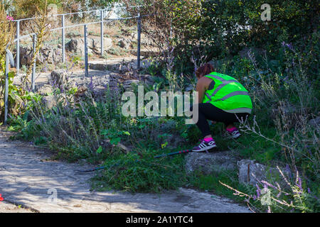
{"type": "Polygon", "coordinates": [[[76,170],[92,166],[48,160],[50,151],[9,141],[8,135],[0,128],[0,213],[249,212],[229,199],[186,188],[164,194],[90,191],[88,180],[95,173],[77,175],[76,170]]]}

